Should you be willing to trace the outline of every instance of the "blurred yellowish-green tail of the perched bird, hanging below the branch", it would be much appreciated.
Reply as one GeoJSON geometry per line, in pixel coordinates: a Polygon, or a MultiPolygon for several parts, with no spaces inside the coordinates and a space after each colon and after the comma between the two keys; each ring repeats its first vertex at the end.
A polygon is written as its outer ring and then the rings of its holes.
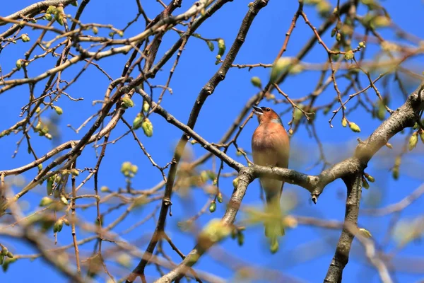
{"type": "Polygon", "coordinates": [[[284,236],[284,226],[281,219],[281,205],[280,205],[281,194],[269,195],[266,194],[266,207],[265,212],[267,214],[264,221],[265,236],[269,239],[271,253],[276,253],[278,250],[278,239],[284,236]]]}

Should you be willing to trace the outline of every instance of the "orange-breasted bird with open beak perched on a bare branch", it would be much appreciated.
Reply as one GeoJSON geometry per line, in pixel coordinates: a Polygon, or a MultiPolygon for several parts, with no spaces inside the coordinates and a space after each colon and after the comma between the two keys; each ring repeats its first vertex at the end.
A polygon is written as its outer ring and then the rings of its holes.
{"type": "MultiPolygon", "coordinates": [[[[252,135],[253,163],[259,166],[271,166],[271,168],[288,168],[290,141],[280,116],[267,107],[253,106],[253,112],[259,121],[259,126],[252,135]]],[[[278,238],[285,234],[281,221],[280,204],[284,182],[269,177],[261,177],[259,181],[265,192],[265,212],[275,216],[273,221],[265,220],[264,226],[265,236],[269,238],[271,253],[276,253],[278,238]]]]}

